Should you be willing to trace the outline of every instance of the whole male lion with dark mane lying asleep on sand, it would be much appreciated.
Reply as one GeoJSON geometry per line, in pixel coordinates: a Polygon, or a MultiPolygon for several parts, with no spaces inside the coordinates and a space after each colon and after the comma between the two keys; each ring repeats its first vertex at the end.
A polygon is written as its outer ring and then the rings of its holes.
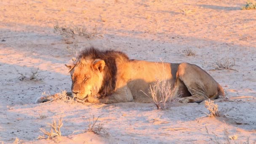
{"type": "Polygon", "coordinates": [[[156,77],[163,78],[160,69],[164,68],[167,82],[176,89],[175,94],[182,93],[181,103],[225,96],[221,85],[195,64],[131,60],[120,51],[89,48],[66,66],[72,78],[72,96],[86,98],[90,103],[149,103],[152,99],[143,92],[149,93],[156,77]]]}

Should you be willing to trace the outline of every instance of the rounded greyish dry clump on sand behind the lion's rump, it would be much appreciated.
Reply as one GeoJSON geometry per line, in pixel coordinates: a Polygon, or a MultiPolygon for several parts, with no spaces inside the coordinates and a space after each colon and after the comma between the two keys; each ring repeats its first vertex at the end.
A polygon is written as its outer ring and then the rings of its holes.
{"type": "Polygon", "coordinates": [[[235,70],[232,69],[232,67],[235,66],[235,59],[234,58],[223,58],[221,60],[217,60],[216,65],[215,65],[215,69],[231,69],[231,70],[235,70]]]}

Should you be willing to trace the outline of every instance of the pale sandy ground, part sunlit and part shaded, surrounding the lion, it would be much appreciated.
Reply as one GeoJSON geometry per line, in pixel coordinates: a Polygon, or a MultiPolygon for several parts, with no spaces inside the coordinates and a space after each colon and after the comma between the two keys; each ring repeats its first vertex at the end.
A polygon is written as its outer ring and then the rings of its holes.
{"type": "Polygon", "coordinates": [[[255,143],[256,11],[240,10],[245,0],[0,0],[0,142],[37,140],[39,128],[63,117],[61,143],[170,144],[255,143]],[[97,27],[89,39],[64,40],[53,26],[97,27]],[[203,117],[204,104],[177,103],[170,110],[154,104],[35,104],[44,91],[70,91],[64,66],[76,52],[93,45],[115,49],[131,59],[197,64],[219,82],[232,101],[218,101],[227,117],[203,117]],[[74,51],[68,50],[69,48],[74,51]],[[195,51],[186,56],[184,50],[195,51]],[[234,58],[235,70],[212,70],[218,59],[234,58]],[[37,79],[29,80],[39,69],[37,79]],[[21,79],[21,74],[27,78],[21,79]],[[41,119],[40,116],[46,118],[41,119]],[[85,130],[95,115],[111,136],[85,130]],[[203,117],[203,118],[199,118],[203,117]],[[228,136],[237,135],[236,140],[228,136]]]}

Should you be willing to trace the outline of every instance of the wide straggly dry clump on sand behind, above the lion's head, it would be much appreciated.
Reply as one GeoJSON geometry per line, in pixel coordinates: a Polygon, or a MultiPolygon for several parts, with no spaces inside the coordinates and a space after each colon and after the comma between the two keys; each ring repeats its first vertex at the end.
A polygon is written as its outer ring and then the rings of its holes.
{"type": "Polygon", "coordinates": [[[79,35],[85,38],[92,38],[92,37],[103,37],[103,31],[99,32],[97,26],[90,31],[84,26],[59,26],[59,24],[54,26],[54,32],[60,34],[64,38],[71,38],[75,35],[79,35]]]}

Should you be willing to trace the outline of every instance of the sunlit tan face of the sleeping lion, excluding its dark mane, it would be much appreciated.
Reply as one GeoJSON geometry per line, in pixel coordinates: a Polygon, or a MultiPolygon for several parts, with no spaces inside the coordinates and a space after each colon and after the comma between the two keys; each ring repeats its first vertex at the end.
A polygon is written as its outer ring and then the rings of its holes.
{"type": "Polygon", "coordinates": [[[85,61],[82,59],[66,66],[70,69],[73,97],[84,99],[99,92],[103,81],[102,71],[105,67],[103,60],[85,61]]]}

